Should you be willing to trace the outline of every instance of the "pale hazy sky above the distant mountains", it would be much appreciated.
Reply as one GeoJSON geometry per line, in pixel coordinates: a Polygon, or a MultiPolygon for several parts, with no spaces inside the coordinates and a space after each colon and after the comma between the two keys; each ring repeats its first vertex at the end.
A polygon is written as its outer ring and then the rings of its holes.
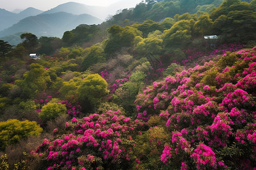
{"type": "MultiPolygon", "coordinates": [[[[95,6],[109,6],[110,4],[118,1],[121,0],[0,0],[0,8],[4,8],[7,11],[13,11],[15,9],[34,7],[39,10],[46,11],[66,2],[77,2],[95,6]]],[[[138,3],[139,2],[141,2],[141,0],[138,0],[138,3]]]]}

